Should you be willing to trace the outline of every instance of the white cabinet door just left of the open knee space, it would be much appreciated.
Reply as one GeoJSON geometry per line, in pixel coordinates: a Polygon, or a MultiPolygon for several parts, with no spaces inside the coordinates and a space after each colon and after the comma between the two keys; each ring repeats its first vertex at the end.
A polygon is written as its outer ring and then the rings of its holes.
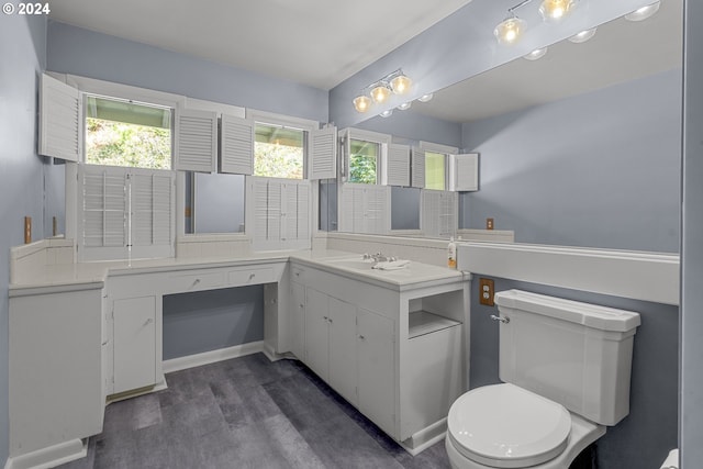
{"type": "Polygon", "coordinates": [[[114,390],[156,383],[156,297],[114,301],[114,390]]]}

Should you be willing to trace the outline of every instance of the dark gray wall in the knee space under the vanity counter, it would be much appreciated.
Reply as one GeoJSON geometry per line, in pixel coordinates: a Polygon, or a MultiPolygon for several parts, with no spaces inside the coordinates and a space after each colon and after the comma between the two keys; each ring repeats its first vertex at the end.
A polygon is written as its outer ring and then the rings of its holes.
{"type": "Polygon", "coordinates": [[[164,359],[264,338],[264,286],[164,297],[164,359]]]}

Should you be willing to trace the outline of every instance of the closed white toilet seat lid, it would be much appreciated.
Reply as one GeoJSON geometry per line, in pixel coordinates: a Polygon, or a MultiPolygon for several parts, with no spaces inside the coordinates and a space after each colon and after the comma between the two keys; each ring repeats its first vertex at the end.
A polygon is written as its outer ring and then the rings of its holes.
{"type": "Polygon", "coordinates": [[[476,388],[449,410],[448,437],[466,458],[496,468],[543,464],[566,448],[571,415],[511,383],[476,388]]]}

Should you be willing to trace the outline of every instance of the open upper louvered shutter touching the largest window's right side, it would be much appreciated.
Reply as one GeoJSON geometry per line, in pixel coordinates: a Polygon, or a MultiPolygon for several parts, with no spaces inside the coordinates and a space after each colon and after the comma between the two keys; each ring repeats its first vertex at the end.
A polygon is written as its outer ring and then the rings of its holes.
{"type": "Polygon", "coordinates": [[[176,113],[175,142],[175,169],[214,172],[217,161],[217,114],[179,110],[176,113]]]}

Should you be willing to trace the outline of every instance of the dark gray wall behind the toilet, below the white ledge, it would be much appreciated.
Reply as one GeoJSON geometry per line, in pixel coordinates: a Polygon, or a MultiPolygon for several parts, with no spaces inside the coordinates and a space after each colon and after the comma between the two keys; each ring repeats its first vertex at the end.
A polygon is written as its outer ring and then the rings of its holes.
{"type": "MultiPolygon", "coordinates": [[[[495,314],[496,309],[478,303],[480,277],[476,275],[471,282],[471,388],[500,382],[499,325],[489,317],[495,314]]],[[[616,426],[607,428],[606,434],[596,442],[595,454],[598,467],[603,469],[658,468],[669,450],[677,447],[678,308],[505,279],[494,280],[495,291],[517,288],[640,314],[641,325],[635,335],[633,349],[629,415],[616,426]]],[[[685,469],[695,467],[700,465],[684,466],[685,469]]]]}

